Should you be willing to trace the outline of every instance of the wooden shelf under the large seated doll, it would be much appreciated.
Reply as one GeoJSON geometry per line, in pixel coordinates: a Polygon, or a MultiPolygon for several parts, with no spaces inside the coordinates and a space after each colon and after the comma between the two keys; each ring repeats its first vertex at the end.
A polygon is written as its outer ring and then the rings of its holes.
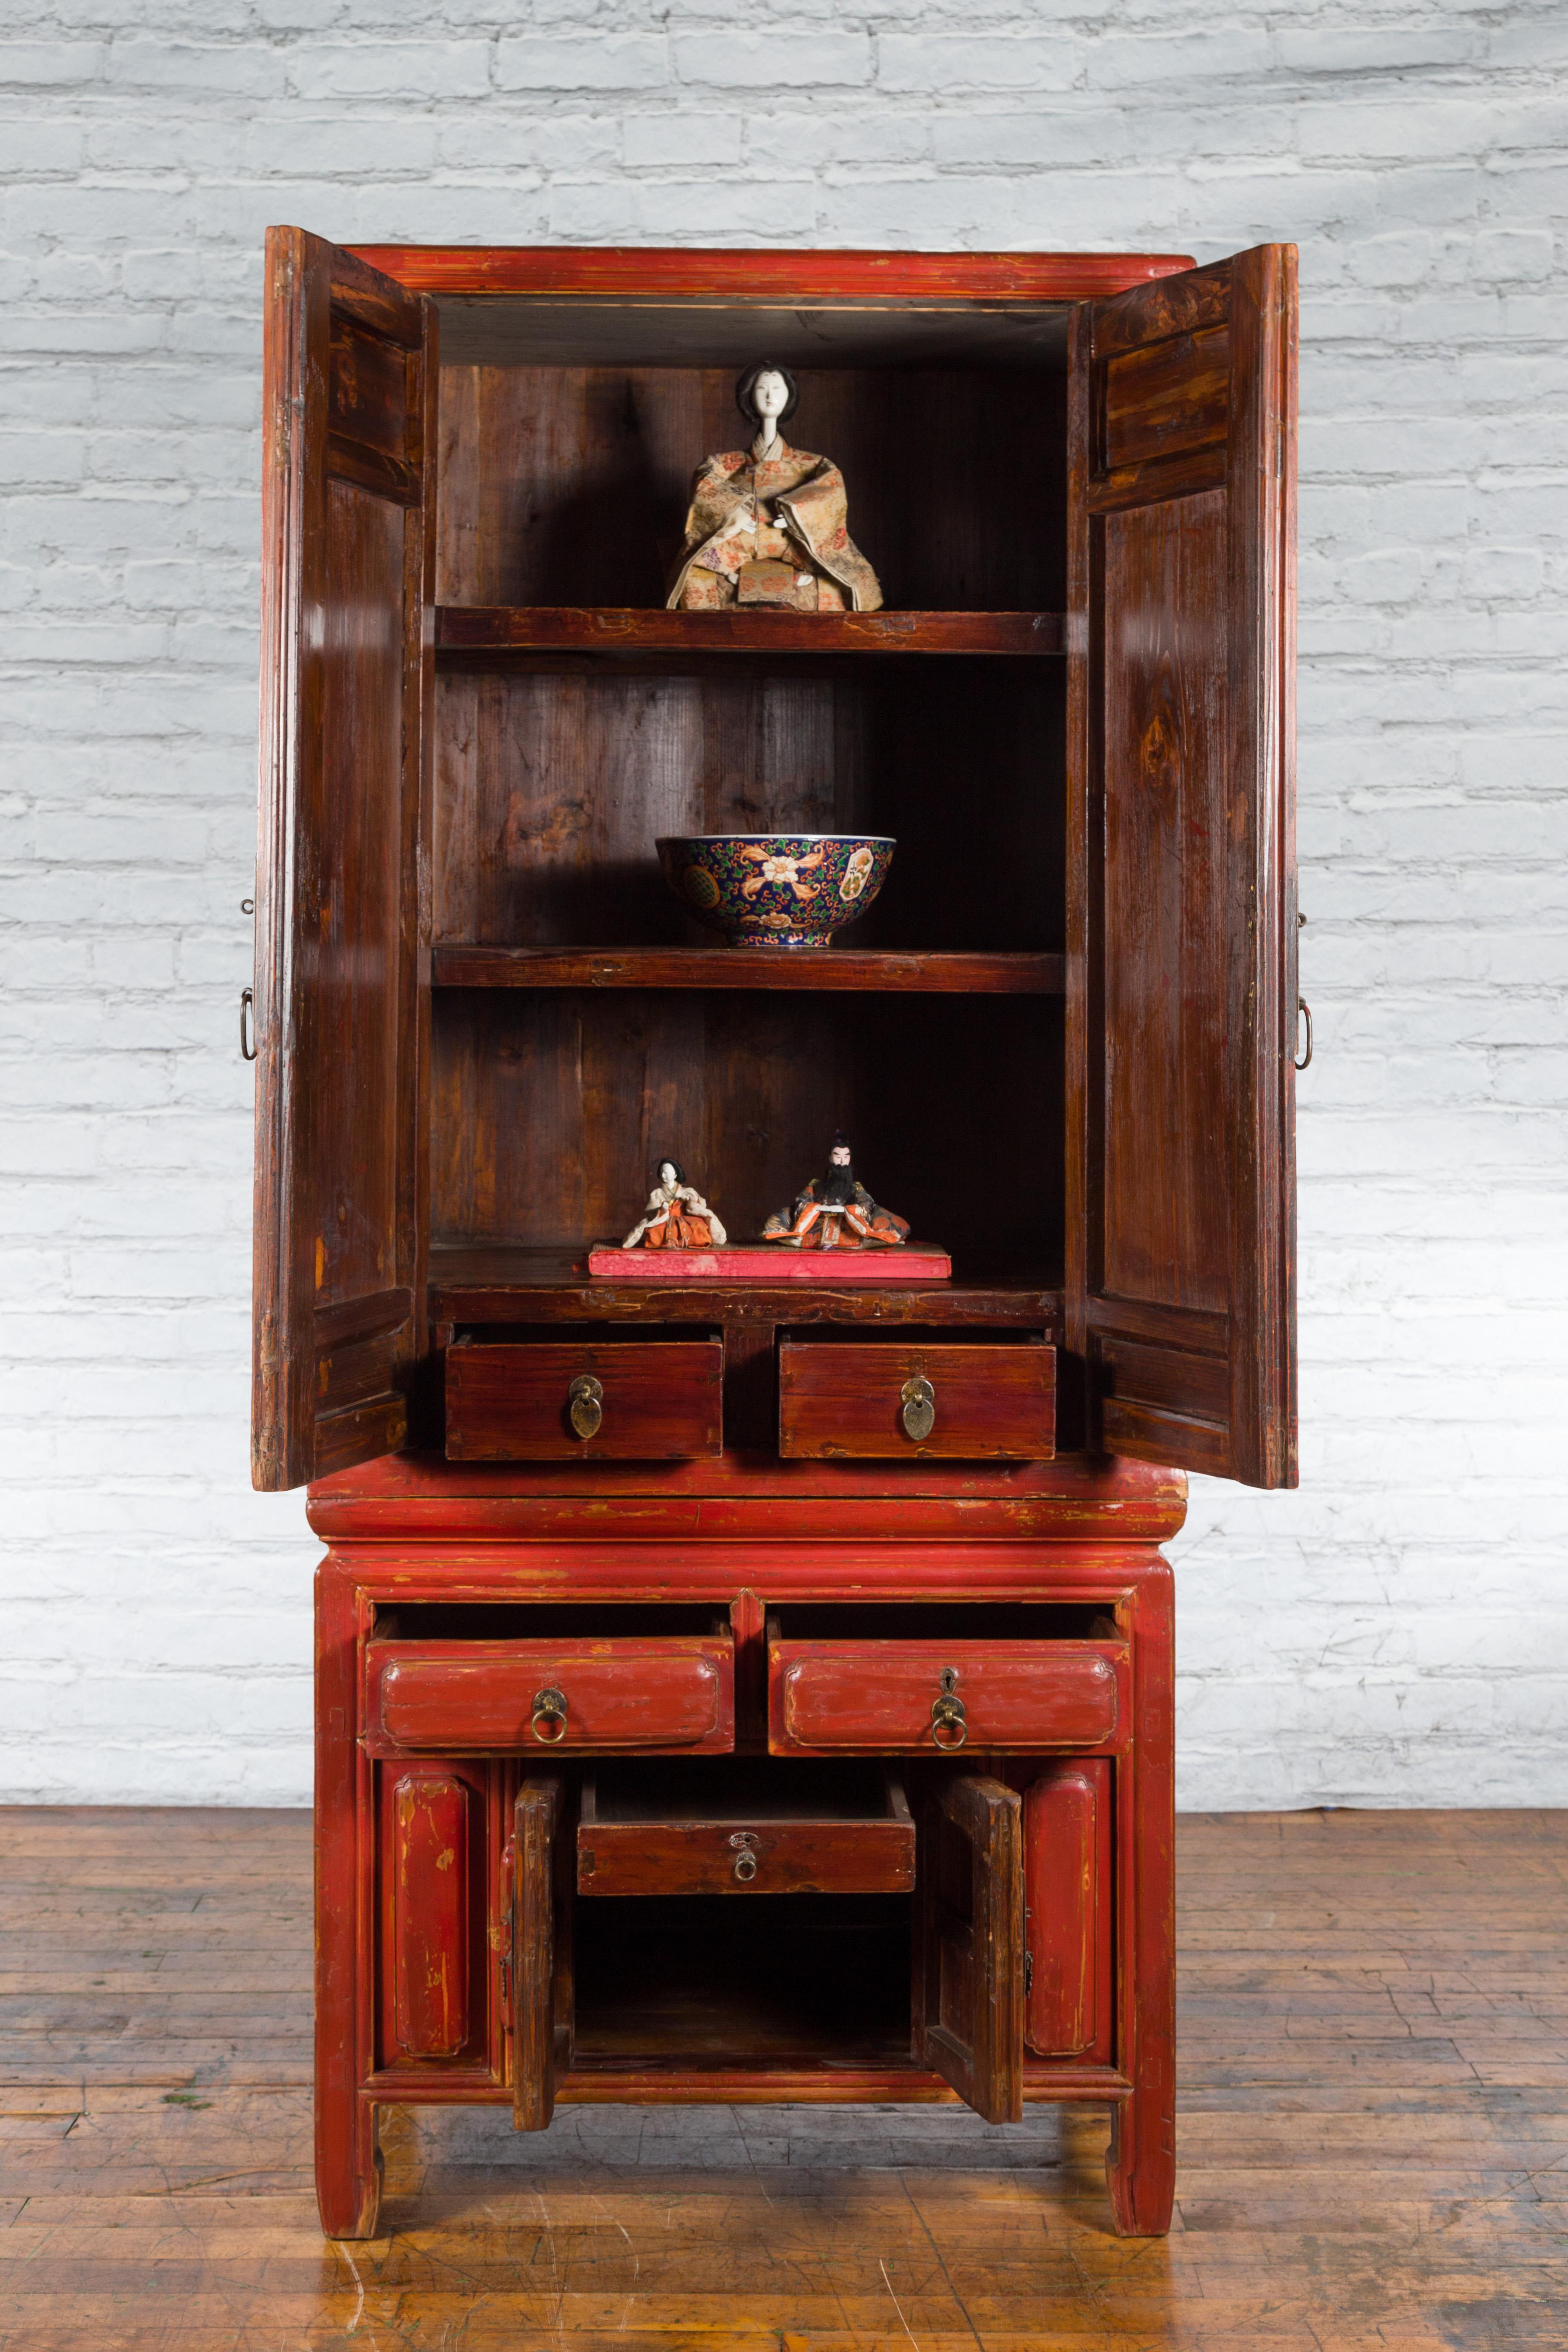
{"type": "Polygon", "coordinates": [[[663,612],[440,604],[444,666],[508,654],[1063,654],[1060,612],[663,612]]]}

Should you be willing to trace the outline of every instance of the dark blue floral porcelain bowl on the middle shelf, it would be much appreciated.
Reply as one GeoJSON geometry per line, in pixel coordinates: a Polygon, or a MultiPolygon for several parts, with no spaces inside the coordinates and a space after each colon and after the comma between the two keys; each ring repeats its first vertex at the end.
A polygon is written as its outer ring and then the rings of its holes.
{"type": "Polygon", "coordinates": [[[825,948],[882,889],[896,842],[875,833],[686,833],[663,877],[731,948],[825,948]]]}

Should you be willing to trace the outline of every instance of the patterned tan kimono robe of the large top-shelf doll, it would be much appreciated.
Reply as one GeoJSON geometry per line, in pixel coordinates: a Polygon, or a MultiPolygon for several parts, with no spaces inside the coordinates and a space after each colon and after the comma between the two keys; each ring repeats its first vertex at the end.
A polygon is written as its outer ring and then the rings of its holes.
{"type": "Polygon", "coordinates": [[[846,529],[844,475],[809,449],[729,449],[691,482],[672,612],[776,604],[785,612],[879,612],[877,574],[846,529]],[[743,529],[731,529],[741,522],[743,529]]]}

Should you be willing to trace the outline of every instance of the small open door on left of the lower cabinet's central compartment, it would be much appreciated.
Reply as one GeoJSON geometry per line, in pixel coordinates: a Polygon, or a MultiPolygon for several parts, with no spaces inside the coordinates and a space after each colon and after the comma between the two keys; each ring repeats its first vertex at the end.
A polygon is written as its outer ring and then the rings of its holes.
{"type": "Polygon", "coordinates": [[[543,2131],[571,2053],[571,1893],[562,1886],[567,1795],[557,1773],[517,1790],[508,1842],[512,2124],[543,2131]]]}

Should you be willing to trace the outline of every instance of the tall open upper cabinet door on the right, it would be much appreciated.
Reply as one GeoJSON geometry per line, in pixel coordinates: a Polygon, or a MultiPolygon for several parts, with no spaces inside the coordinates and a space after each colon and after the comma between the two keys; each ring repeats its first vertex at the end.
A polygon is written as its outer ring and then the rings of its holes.
{"type": "Polygon", "coordinates": [[[1070,379],[1067,1345],[1088,1444],[1295,1484],[1295,247],[1070,379]]]}

